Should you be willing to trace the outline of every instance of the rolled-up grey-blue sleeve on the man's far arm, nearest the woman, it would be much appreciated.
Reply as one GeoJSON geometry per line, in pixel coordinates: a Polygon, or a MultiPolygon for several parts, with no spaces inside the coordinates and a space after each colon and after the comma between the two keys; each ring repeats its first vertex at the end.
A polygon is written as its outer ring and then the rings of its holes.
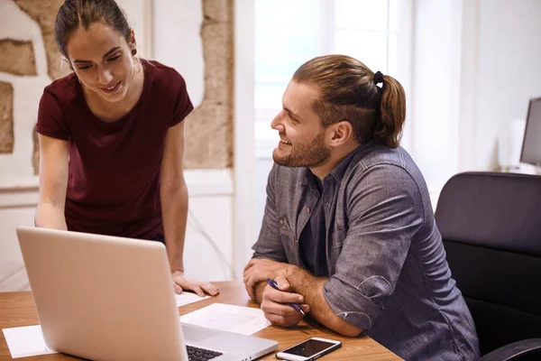
{"type": "Polygon", "coordinates": [[[276,208],[275,184],[277,165],[274,164],[267,181],[267,201],[261,224],[260,235],[252,246],[252,258],[268,258],[276,262],[286,263],[288,258],[281,243],[279,220],[276,208]]]}

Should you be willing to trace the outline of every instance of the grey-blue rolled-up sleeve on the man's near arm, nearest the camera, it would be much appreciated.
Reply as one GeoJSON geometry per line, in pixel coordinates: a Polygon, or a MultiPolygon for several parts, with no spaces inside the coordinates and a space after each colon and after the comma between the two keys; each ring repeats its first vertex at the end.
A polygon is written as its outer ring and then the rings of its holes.
{"type": "Polygon", "coordinates": [[[347,233],[323,293],[336,315],[371,329],[395,290],[425,215],[417,183],[399,166],[363,171],[348,185],[348,195],[347,233]]]}

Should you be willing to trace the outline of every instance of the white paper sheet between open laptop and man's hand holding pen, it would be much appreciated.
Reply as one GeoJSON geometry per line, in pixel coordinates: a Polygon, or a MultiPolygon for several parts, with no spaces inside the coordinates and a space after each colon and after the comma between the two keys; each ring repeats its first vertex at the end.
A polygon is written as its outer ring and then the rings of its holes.
{"type": "Polygon", "coordinates": [[[181,316],[180,321],[207,329],[221,329],[243,335],[252,335],[260,329],[271,326],[271,322],[265,319],[260,309],[224,303],[213,303],[190,312],[181,316]]]}

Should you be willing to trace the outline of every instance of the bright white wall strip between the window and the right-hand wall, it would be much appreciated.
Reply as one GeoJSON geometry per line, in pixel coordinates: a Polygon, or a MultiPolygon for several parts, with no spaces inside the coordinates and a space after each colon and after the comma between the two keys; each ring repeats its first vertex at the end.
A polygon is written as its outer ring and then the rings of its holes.
{"type": "Polygon", "coordinates": [[[433,189],[458,169],[462,3],[414,4],[409,149],[433,189]]]}

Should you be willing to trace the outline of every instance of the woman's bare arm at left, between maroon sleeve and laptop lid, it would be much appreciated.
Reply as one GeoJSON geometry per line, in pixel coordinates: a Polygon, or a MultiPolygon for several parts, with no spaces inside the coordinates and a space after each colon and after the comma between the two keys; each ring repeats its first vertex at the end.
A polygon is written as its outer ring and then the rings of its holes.
{"type": "Polygon", "coordinates": [[[36,227],[68,229],[64,216],[68,188],[68,142],[39,134],[40,200],[36,227]]]}

